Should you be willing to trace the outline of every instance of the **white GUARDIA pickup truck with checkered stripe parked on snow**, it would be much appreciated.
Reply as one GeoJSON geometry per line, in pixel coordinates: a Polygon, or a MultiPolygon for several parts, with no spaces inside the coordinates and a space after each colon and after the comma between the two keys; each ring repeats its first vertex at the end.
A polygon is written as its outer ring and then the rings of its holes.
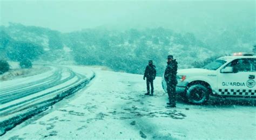
{"type": "MultiPolygon", "coordinates": [[[[176,92],[192,104],[206,103],[211,96],[256,98],[256,55],[234,53],[203,68],[179,69],[176,92]]],[[[166,90],[166,82],[162,79],[166,90]]]]}

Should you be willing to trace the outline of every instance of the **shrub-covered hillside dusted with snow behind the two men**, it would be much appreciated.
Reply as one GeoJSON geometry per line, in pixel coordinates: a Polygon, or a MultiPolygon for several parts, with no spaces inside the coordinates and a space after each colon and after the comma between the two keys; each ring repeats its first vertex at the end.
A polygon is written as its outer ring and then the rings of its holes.
{"type": "MultiPolygon", "coordinates": [[[[250,39],[237,38],[238,43],[232,41],[228,44],[229,38],[225,40],[224,50],[221,40],[215,45],[213,40],[209,44],[210,41],[199,39],[193,33],[177,33],[163,27],[125,31],[98,28],[62,33],[10,23],[9,26],[1,26],[0,49],[2,59],[19,60],[25,55],[32,60],[101,65],[114,71],[137,74],[144,72],[147,60],[153,60],[158,75],[161,75],[168,54],[174,55],[179,68],[199,67],[197,64],[205,59],[231,53],[238,50],[236,46],[239,45],[242,51],[251,50],[254,43],[250,39]]],[[[216,42],[217,37],[214,39],[216,42]]]]}

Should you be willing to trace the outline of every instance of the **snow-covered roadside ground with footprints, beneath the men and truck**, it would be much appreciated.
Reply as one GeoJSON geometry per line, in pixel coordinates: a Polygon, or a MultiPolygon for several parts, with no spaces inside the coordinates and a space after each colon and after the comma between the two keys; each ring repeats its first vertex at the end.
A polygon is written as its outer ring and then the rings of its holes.
{"type": "MultiPolygon", "coordinates": [[[[178,100],[165,108],[161,78],[154,96],[144,96],[143,75],[92,70],[87,87],[8,131],[1,139],[256,139],[255,107],[220,102],[194,106],[178,100]]],[[[218,101],[218,99],[217,99],[218,101]]]]}

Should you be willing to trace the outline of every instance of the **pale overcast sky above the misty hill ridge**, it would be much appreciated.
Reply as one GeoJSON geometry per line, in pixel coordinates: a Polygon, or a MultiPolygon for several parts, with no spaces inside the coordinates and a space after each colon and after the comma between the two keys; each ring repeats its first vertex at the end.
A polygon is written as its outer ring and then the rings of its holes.
{"type": "Polygon", "coordinates": [[[163,26],[200,31],[255,27],[255,1],[2,1],[1,25],[9,22],[70,32],[107,26],[163,26]]]}

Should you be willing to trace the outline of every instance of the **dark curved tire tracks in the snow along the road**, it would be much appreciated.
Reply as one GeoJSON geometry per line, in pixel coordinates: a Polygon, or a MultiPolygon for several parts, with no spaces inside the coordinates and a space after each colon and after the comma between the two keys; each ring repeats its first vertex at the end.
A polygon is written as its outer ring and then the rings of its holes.
{"type": "Polygon", "coordinates": [[[52,104],[85,87],[94,76],[95,74],[91,78],[86,78],[85,75],[75,73],[70,68],[57,66],[54,74],[47,78],[28,82],[29,85],[24,88],[22,88],[24,83],[19,85],[21,92],[17,92],[15,87],[1,90],[1,93],[5,91],[8,93],[0,94],[0,103],[2,104],[0,108],[0,136],[14,128],[15,125],[41,113],[52,104]],[[49,88],[52,89],[49,90],[49,88]]]}

